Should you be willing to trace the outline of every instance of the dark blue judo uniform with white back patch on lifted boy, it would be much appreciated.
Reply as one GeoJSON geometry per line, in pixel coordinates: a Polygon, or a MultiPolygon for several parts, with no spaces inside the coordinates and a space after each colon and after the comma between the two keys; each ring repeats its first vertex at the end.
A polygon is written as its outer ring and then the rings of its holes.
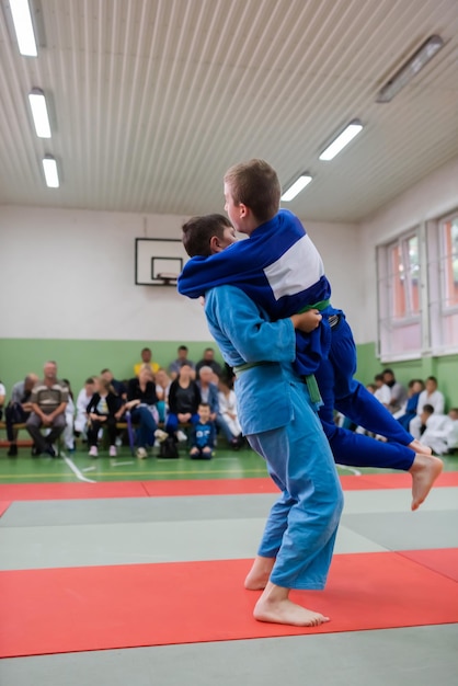
{"type": "Polygon", "coordinates": [[[179,291],[197,298],[208,288],[230,284],[241,288],[273,320],[319,306],[323,316],[311,333],[296,332],[295,370],[314,374],[323,400],[320,419],[334,459],[340,465],[409,470],[415,457],[413,436],[356,379],[356,346],[342,310],[329,300],[331,286],[321,256],[299,219],[280,209],[250,238],[209,258],[190,260],[179,278],[179,291]],[[332,329],[329,317],[339,322],[332,329]],[[334,408],[388,443],[337,427],[334,408]]]}

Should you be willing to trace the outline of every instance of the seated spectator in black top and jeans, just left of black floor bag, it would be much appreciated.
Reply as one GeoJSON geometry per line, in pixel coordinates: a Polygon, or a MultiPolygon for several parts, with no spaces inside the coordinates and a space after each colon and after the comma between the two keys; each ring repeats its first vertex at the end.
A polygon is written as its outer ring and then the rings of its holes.
{"type": "Polygon", "coordinates": [[[145,459],[147,448],[154,445],[154,432],[158,428],[159,413],[156,384],[149,364],[139,370],[138,377],[130,379],[127,386],[127,402],[124,405],[130,412],[131,421],[138,424],[137,457],[145,459]]]}

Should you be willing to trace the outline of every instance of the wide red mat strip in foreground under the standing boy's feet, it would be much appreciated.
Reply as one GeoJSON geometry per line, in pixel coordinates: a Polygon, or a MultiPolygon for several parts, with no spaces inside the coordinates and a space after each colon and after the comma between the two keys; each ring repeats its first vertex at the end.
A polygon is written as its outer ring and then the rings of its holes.
{"type": "MultiPolygon", "coordinates": [[[[424,551],[434,565],[437,551],[424,551]]],[[[456,551],[440,551],[440,556],[456,551]]],[[[249,560],[0,573],[0,655],[330,633],[458,621],[458,584],[396,552],[335,556],[324,592],[291,598],[316,629],[257,622],[249,560]]]]}

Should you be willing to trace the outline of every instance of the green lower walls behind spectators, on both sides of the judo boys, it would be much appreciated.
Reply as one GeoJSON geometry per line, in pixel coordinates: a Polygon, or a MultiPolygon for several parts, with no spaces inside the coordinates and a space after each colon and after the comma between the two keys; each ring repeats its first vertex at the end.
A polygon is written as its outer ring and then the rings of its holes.
{"type": "MultiPolygon", "coordinates": [[[[197,362],[205,347],[218,348],[211,341],[185,343],[190,358],[197,362]]],[[[55,359],[59,365],[59,376],[68,378],[73,392],[82,387],[88,376],[99,374],[104,367],[113,370],[118,379],[133,376],[134,364],[140,361],[142,347],[150,347],[152,356],[161,366],[168,367],[176,357],[176,341],[75,341],[67,339],[0,339],[0,379],[11,390],[13,384],[24,378],[28,371],[41,375],[43,364],[55,359]]],[[[447,407],[458,407],[458,355],[423,357],[408,362],[381,365],[376,356],[375,343],[357,345],[358,367],[356,376],[363,384],[373,381],[383,366],[393,369],[399,381],[407,385],[412,378],[425,379],[435,376],[444,392],[447,407]]]]}

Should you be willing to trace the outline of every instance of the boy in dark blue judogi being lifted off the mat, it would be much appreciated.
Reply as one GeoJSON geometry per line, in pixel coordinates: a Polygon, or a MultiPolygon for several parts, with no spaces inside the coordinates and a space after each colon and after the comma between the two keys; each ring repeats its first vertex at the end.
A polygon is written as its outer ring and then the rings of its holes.
{"type": "MultiPolygon", "coordinates": [[[[440,460],[432,458],[431,450],[414,441],[353,378],[356,348],[352,331],[343,312],[330,305],[331,287],[321,258],[300,221],[288,210],[278,211],[279,194],[275,171],[262,160],[229,170],[225,178],[226,210],[232,225],[250,238],[224,252],[222,243],[215,244],[211,251],[219,254],[187,262],[179,290],[197,297],[206,288],[232,284],[264,307],[273,319],[318,309],[323,316],[319,329],[297,334],[295,367],[300,375],[317,376],[323,399],[320,419],[333,454],[340,464],[409,470],[415,510],[440,472],[440,460]],[[390,449],[335,426],[334,407],[356,424],[385,435],[390,449]],[[373,458],[369,462],[368,455],[373,458]]],[[[198,254],[207,255],[208,242],[202,248],[206,250],[198,250],[198,254]]],[[[193,252],[196,253],[197,250],[193,252]]]]}

